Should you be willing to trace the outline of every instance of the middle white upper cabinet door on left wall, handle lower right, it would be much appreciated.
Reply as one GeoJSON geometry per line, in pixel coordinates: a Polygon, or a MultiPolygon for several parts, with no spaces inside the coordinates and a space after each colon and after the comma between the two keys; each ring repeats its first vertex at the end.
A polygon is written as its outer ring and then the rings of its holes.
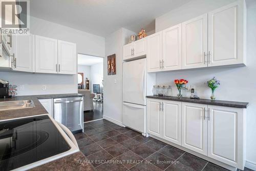
{"type": "Polygon", "coordinates": [[[58,41],[35,35],[35,71],[57,73],[58,41]]]}

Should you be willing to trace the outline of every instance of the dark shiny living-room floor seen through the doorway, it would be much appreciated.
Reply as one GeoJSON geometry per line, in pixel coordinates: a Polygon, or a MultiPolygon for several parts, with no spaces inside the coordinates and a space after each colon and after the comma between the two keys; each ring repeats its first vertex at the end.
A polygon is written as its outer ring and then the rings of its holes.
{"type": "Polygon", "coordinates": [[[103,118],[103,102],[93,102],[94,110],[83,112],[83,122],[93,121],[103,118]]]}

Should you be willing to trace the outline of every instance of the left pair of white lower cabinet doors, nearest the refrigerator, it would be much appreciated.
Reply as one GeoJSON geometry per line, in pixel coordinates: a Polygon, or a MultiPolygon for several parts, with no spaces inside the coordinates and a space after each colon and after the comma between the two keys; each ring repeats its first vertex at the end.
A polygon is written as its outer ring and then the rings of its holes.
{"type": "Polygon", "coordinates": [[[147,133],[181,145],[181,102],[147,99],[147,133]]]}

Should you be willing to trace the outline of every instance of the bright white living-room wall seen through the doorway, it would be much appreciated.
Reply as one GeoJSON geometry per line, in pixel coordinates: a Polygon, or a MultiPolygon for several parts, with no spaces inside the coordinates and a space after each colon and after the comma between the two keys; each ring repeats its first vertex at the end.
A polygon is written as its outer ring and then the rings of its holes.
{"type": "Polygon", "coordinates": [[[91,91],[93,92],[93,84],[99,84],[100,92],[103,90],[103,62],[91,66],[91,91]]]}

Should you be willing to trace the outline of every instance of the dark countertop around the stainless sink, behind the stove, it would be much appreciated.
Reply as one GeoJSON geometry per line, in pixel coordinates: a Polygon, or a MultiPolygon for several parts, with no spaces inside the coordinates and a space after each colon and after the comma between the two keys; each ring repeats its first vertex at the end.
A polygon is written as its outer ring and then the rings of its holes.
{"type": "Polygon", "coordinates": [[[51,98],[67,98],[67,97],[82,97],[84,94],[47,94],[47,95],[33,95],[33,96],[16,96],[7,99],[0,99],[0,102],[4,101],[18,101],[18,100],[33,100],[35,107],[26,109],[14,109],[0,111],[0,121],[6,119],[30,117],[35,115],[43,115],[48,112],[41,105],[38,99],[51,99],[51,98]]]}

